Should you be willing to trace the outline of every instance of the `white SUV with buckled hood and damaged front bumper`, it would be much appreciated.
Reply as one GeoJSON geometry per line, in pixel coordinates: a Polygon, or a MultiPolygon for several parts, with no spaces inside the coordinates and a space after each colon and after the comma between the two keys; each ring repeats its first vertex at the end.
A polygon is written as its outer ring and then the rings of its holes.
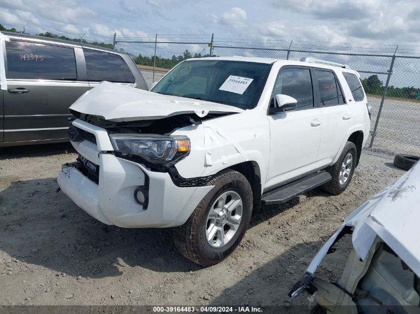
{"type": "Polygon", "coordinates": [[[370,129],[359,74],[309,58],[190,59],[150,92],[103,82],[70,112],[80,156],[61,189],[105,224],[176,227],[201,265],[235,250],[261,204],[341,193],[370,129]]]}

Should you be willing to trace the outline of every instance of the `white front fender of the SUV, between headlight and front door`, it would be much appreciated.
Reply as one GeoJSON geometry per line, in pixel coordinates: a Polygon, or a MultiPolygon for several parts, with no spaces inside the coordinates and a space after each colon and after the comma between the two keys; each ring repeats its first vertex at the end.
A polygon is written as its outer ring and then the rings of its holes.
{"type": "Polygon", "coordinates": [[[256,113],[259,113],[258,109],[247,110],[176,130],[173,135],[186,135],[191,141],[190,154],[175,164],[179,175],[183,178],[211,176],[251,161],[258,165],[260,173],[257,175],[261,183],[265,183],[270,148],[269,125],[266,115],[256,113]]]}

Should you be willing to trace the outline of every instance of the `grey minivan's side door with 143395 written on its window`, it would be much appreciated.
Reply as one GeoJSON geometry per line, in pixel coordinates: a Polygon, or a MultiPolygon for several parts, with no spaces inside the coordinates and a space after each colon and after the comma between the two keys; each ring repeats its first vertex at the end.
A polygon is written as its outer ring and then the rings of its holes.
{"type": "Polygon", "coordinates": [[[4,142],[67,138],[69,107],[89,89],[81,48],[12,38],[5,48],[4,142]]]}

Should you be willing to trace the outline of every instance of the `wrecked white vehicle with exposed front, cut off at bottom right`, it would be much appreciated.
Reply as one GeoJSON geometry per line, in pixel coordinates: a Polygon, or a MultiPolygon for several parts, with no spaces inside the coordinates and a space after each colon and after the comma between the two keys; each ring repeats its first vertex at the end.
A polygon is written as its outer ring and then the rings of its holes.
{"type": "Polygon", "coordinates": [[[310,263],[289,296],[308,292],[312,312],[420,313],[420,164],[357,208],[310,263]],[[340,278],[314,273],[337,241],[352,233],[353,248],[340,278]]]}

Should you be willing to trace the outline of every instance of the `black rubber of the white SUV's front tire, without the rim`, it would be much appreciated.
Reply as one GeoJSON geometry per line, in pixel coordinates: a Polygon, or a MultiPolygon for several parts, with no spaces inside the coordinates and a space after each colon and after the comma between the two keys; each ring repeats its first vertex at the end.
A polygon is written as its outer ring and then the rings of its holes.
{"type": "Polygon", "coordinates": [[[172,231],[178,251],[193,262],[211,266],[228,257],[240,244],[252,214],[252,189],[247,178],[237,171],[226,169],[207,184],[214,186],[194,209],[188,220],[172,231]],[[225,192],[238,193],[242,200],[242,219],[232,239],[220,248],[212,247],[206,239],[207,217],[213,203],[225,192]]]}

